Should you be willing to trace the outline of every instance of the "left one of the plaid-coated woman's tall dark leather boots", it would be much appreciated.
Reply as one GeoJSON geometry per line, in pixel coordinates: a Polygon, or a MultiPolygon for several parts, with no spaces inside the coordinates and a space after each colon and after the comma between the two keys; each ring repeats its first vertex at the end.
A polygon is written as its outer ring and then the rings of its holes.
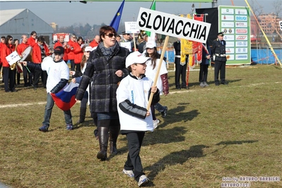
{"type": "Polygon", "coordinates": [[[107,159],[107,142],[109,140],[109,129],[107,127],[98,127],[100,151],[97,158],[100,160],[107,159]]]}

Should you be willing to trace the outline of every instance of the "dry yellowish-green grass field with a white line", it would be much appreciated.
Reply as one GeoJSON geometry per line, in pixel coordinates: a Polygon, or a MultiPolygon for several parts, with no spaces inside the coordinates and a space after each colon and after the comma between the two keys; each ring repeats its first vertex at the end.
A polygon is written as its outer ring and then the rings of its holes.
{"type": "MultiPolygon", "coordinates": [[[[237,182],[249,187],[282,187],[280,180],[256,179],[282,177],[282,70],[256,65],[226,72],[228,86],[215,86],[210,69],[211,86],[201,88],[199,71],[190,71],[189,90],[176,90],[174,72],[169,72],[170,94],[160,101],[168,106],[168,117],[157,113],[160,126],[146,134],[141,148],[148,187],[221,187],[240,177],[253,177],[237,182]]],[[[50,131],[42,133],[45,90],[19,86],[17,93],[4,93],[0,86],[0,182],[11,187],[137,187],[122,174],[125,136],[119,136],[118,155],[101,162],[89,110],[86,122],[66,131],[63,112],[54,107],[50,131]]],[[[79,105],[71,109],[74,122],[79,105]]]]}

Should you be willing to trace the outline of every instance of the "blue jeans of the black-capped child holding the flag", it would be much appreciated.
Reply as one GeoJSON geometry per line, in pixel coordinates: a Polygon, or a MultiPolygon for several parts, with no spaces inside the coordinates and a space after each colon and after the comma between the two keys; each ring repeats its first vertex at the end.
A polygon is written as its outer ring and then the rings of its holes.
{"type": "MultiPolygon", "coordinates": [[[[47,93],[47,103],[45,106],[44,121],[42,122],[43,125],[49,126],[53,106],[54,100],[50,93],[47,93]]],[[[71,119],[71,110],[64,111],[64,120],[66,121],[66,124],[73,124],[71,119]]]]}

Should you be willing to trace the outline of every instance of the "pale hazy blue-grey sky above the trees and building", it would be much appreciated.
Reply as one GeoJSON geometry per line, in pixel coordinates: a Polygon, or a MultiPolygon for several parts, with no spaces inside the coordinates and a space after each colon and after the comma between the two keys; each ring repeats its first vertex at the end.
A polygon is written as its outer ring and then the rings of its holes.
{"type": "MultiPolygon", "coordinates": [[[[100,25],[110,24],[114,14],[117,12],[122,1],[114,2],[88,2],[83,4],[79,1],[20,1],[20,2],[0,2],[0,10],[28,8],[46,23],[57,23],[60,27],[74,24],[100,25]]],[[[8,0],[7,0],[8,1],[8,0]]],[[[102,1],[102,0],[101,0],[102,1]]],[[[248,0],[252,6],[255,3],[263,7],[264,13],[274,10],[273,2],[277,0],[248,0]]],[[[247,6],[245,0],[233,0],[235,6],[247,6]]],[[[218,6],[232,6],[230,0],[218,0],[218,6]]],[[[125,1],[122,12],[122,22],[136,21],[140,7],[150,8],[151,2],[129,2],[125,1]]],[[[211,3],[194,3],[195,8],[211,8],[211,3]]],[[[192,12],[192,3],[180,2],[158,2],[156,0],[156,11],[172,14],[187,14],[192,12]]],[[[0,15],[1,16],[1,15],[0,15]]]]}

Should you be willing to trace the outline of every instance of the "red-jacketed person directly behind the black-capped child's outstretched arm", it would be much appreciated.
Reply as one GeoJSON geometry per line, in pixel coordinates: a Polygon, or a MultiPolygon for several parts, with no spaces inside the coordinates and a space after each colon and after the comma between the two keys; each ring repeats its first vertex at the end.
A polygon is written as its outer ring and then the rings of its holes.
{"type": "MultiPolygon", "coordinates": [[[[37,45],[33,46],[33,63],[41,64],[45,57],[49,56],[49,49],[45,44],[45,37],[40,35],[37,39],[37,45]]],[[[42,71],[41,69],[34,70],[34,82],[33,88],[37,90],[39,78],[41,76],[41,80],[43,83],[43,87],[46,88],[46,81],[47,81],[47,72],[42,71]],[[41,76],[42,75],[42,76],[41,76]]]]}

